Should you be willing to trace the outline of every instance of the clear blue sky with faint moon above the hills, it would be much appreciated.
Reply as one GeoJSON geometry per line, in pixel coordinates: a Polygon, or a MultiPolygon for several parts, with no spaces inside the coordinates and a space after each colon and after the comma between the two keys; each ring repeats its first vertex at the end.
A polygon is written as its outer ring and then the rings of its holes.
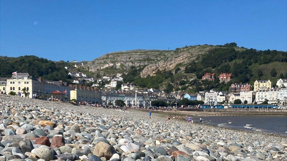
{"type": "Polygon", "coordinates": [[[0,1],[0,55],[93,60],[185,45],[287,50],[287,1],[0,1]]]}

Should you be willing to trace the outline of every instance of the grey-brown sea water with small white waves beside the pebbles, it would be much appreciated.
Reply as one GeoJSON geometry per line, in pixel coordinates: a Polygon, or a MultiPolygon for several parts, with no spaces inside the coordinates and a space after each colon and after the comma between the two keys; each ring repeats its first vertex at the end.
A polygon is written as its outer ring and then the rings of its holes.
{"type": "Polygon", "coordinates": [[[200,116],[194,122],[224,128],[287,135],[287,116],[200,116]]]}

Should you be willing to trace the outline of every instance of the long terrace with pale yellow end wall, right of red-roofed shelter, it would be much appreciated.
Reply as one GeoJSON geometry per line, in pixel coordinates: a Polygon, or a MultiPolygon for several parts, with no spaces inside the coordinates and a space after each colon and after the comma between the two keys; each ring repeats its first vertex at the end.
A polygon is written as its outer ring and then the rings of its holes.
{"type": "Polygon", "coordinates": [[[101,103],[101,91],[96,91],[94,87],[85,87],[82,85],[70,86],[70,100],[75,99],[77,102],[101,103]]]}

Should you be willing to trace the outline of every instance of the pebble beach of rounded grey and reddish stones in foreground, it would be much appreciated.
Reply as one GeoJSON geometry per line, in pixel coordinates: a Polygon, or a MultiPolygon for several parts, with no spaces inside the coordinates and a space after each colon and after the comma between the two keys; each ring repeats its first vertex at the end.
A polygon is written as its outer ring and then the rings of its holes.
{"type": "Polygon", "coordinates": [[[287,160],[287,139],[0,95],[0,161],[287,160]]]}

